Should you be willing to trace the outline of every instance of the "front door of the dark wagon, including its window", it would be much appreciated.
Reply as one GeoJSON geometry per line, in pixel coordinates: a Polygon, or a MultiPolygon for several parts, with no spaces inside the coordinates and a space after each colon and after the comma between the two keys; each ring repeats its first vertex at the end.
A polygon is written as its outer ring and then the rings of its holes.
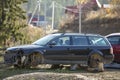
{"type": "Polygon", "coordinates": [[[51,60],[68,60],[70,47],[70,36],[62,36],[48,43],[45,58],[51,60]],[[49,44],[54,45],[49,45],[49,44]]]}

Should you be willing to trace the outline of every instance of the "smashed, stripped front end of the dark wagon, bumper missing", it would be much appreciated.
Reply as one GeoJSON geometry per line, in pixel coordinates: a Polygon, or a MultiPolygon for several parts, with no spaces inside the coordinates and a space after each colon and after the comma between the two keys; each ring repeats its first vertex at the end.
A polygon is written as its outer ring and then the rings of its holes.
{"type": "Polygon", "coordinates": [[[7,65],[14,65],[15,67],[23,67],[25,65],[27,57],[24,52],[18,50],[7,50],[4,55],[4,63],[7,65]]]}

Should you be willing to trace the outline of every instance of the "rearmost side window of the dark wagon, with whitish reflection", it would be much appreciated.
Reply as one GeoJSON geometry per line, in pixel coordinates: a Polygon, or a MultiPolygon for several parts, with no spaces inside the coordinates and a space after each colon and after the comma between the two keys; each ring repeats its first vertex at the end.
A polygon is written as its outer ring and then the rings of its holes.
{"type": "Polygon", "coordinates": [[[90,41],[91,45],[96,45],[96,46],[107,46],[107,45],[109,45],[107,40],[105,40],[105,38],[103,38],[103,37],[90,36],[88,38],[89,38],[89,41],[90,41]]]}

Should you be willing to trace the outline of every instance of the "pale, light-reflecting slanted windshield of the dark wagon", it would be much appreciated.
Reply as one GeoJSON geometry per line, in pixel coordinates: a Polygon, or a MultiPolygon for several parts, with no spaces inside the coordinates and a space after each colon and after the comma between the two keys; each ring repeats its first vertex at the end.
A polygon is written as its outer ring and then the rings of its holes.
{"type": "MultiPolygon", "coordinates": [[[[59,34],[60,35],[60,34],[59,34]]],[[[54,39],[55,37],[57,37],[58,34],[50,34],[50,35],[47,35],[43,38],[40,38],[39,40],[33,42],[32,44],[35,44],[35,45],[40,45],[40,46],[44,46],[46,45],[49,41],[51,41],[52,39],[54,39]]]]}

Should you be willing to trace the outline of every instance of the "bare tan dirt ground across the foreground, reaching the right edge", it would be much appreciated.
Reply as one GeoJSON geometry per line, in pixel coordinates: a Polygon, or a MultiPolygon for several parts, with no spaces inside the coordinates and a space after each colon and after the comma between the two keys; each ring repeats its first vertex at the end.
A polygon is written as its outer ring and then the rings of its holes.
{"type": "Polygon", "coordinates": [[[120,69],[107,68],[104,72],[88,72],[86,69],[75,71],[46,71],[17,74],[3,80],[120,80],[120,69]]]}

